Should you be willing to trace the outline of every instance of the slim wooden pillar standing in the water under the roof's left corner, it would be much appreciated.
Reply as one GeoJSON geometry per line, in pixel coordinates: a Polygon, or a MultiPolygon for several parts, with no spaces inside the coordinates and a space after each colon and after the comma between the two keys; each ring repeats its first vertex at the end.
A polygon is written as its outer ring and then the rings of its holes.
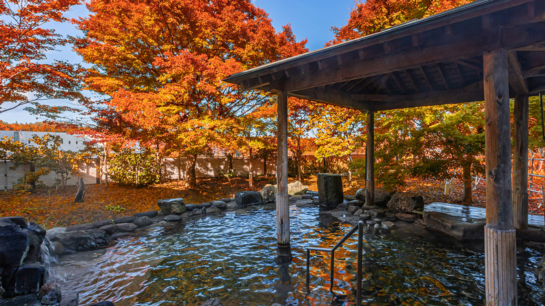
{"type": "Polygon", "coordinates": [[[276,241],[289,245],[289,195],[287,193],[287,93],[278,91],[278,160],[276,162],[276,241]]]}

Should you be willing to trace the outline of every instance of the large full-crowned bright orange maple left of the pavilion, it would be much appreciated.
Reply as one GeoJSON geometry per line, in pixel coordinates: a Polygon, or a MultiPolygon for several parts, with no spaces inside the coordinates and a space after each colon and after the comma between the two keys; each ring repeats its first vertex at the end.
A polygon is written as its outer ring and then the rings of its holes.
{"type": "Polygon", "coordinates": [[[223,78],[304,50],[289,25],[276,33],[250,1],[106,1],[88,4],[76,51],[94,70],[85,82],[115,113],[112,126],[185,155],[196,185],[196,157],[233,131],[237,118],[268,99],[223,78]]]}

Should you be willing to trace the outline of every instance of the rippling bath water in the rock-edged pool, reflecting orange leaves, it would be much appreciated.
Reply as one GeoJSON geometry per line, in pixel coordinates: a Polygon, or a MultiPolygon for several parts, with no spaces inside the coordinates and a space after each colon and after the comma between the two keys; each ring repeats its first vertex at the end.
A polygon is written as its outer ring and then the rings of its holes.
{"type": "MultiPolygon", "coordinates": [[[[274,210],[189,219],[155,227],[106,250],[63,256],[52,274],[63,292],[80,292],[80,305],[353,305],[356,236],[336,252],[334,294],[329,255],[313,254],[305,285],[308,246],[331,248],[350,228],[318,208],[290,207],[291,263],[277,259],[274,210]]],[[[364,237],[365,305],[484,305],[484,252],[408,226],[364,237]]],[[[533,269],[540,255],[517,257],[519,305],[542,305],[533,269]]]]}

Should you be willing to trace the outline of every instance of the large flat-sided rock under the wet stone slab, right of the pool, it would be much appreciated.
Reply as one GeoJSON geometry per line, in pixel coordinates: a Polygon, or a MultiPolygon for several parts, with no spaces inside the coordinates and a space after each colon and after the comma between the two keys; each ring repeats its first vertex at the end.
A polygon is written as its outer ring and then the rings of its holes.
{"type": "Polygon", "coordinates": [[[486,219],[453,217],[443,212],[424,212],[428,230],[442,232],[458,240],[484,239],[486,219]]]}

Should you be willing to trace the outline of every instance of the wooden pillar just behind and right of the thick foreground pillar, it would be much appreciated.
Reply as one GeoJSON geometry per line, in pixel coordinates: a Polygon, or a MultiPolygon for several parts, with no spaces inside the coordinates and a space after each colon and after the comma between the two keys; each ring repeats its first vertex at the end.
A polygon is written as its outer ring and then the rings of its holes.
{"type": "Polygon", "coordinates": [[[513,109],[513,227],[528,228],[528,95],[515,96],[513,109]]]}

